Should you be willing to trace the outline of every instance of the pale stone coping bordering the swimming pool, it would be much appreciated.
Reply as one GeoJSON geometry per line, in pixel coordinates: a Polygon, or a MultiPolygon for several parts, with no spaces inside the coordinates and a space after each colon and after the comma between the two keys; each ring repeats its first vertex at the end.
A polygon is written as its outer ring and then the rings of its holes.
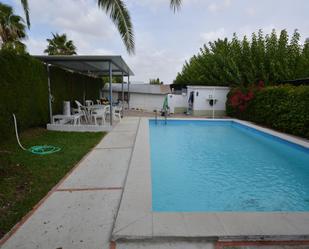
{"type": "MultiPolygon", "coordinates": [[[[309,212],[153,212],[149,120],[142,118],[112,240],[306,240],[309,212]]],[[[173,120],[188,120],[175,118],[173,120]]],[[[201,118],[190,120],[205,120],[201,118]]],[[[237,119],[234,121],[309,149],[309,142],[237,119]]]]}

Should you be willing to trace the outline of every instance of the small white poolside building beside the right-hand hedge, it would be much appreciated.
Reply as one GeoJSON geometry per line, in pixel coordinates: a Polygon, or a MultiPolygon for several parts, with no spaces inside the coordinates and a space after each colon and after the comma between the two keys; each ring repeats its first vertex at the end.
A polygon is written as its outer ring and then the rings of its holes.
{"type": "Polygon", "coordinates": [[[193,116],[225,115],[225,103],[229,87],[187,86],[182,94],[169,94],[168,105],[171,113],[189,113],[193,116]]]}

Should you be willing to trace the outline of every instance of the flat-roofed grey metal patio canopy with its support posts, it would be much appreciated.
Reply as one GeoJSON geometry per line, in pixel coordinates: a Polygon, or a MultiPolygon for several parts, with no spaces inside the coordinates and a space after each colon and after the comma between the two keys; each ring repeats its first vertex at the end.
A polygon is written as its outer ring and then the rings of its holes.
{"type": "MultiPolygon", "coordinates": [[[[130,76],[134,75],[132,70],[122,59],[120,55],[35,55],[35,58],[43,61],[47,65],[48,72],[48,91],[49,91],[49,116],[50,122],[53,122],[51,89],[50,89],[50,70],[49,66],[54,65],[66,70],[78,72],[92,77],[109,76],[109,97],[110,97],[110,125],[112,119],[112,77],[128,77],[128,92],[130,91],[130,76]]],[[[122,101],[124,100],[124,88],[122,80],[122,101]]],[[[129,98],[128,98],[129,105],[129,98]]]]}

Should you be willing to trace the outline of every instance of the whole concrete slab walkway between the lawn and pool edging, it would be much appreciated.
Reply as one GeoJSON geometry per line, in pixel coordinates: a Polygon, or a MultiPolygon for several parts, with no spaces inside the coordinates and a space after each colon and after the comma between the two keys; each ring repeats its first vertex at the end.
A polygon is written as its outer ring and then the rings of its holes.
{"type": "Polygon", "coordinates": [[[1,249],[110,248],[138,125],[134,117],[117,124],[1,249]]]}

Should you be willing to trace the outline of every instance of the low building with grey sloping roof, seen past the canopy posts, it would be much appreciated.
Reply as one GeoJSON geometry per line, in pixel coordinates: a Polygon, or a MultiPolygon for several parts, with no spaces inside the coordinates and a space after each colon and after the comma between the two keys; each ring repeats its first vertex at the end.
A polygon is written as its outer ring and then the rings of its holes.
{"type": "MultiPolygon", "coordinates": [[[[122,86],[119,83],[112,84],[113,101],[122,99],[122,86]]],[[[129,103],[130,109],[139,109],[148,112],[161,110],[164,98],[170,94],[169,85],[130,84],[129,103]]],[[[109,85],[105,84],[103,97],[109,96],[109,85]]],[[[124,99],[128,100],[128,85],[124,84],[124,99]]]]}

